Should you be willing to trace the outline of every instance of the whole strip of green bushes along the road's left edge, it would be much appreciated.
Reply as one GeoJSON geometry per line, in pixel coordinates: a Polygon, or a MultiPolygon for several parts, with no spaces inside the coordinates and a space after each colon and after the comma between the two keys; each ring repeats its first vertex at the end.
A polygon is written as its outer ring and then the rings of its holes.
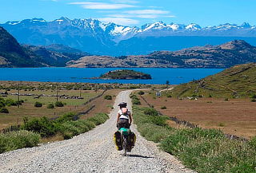
{"type": "Polygon", "coordinates": [[[24,125],[17,132],[0,133],[0,153],[16,150],[22,147],[34,147],[39,144],[41,137],[51,137],[61,134],[64,140],[90,131],[109,119],[106,113],[98,113],[86,120],[76,120],[77,115],[67,113],[57,120],[46,117],[29,120],[24,118],[24,125]]]}

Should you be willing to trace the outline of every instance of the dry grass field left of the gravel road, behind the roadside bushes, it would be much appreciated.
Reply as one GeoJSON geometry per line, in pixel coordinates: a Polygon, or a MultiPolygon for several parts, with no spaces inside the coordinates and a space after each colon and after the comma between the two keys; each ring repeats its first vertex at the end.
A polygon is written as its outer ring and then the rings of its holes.
{"type": "MultiPolygon", "coordinates": [[[[15,94],[18,93],[17,89],[12,88],[11,86],[18,85],[18,82],[7,82],[1,81],[0,85],[4,85],[8,87],[8,95],[3,97],[6,99],[18,100],[17,95],[12,95],[11,93],[15,94]]],[[[93,98],[95,96],[100,95],[103,92],[103,89],[90,89],[84,90],[82,89],[74,89],[69,88],[66,89],[63,85],[60,85],[58,89],[58,96],[80,96],[83,99],[64,99],[58,97],[58,101],[62,101],[66,105],[64,107],[55,107],[55,108],[47,108],[48,104],[54,104],[56,102],[56,89],[54,88],[44,88],[38,89],[40,85],[46,85],[46,83],[39,83],[39,82],[22,82],[23,86],[30,86],[33,89],[20,89],[19,99],[24,100],[22,105],[18,106],[10,106],[6,107],[9,110],[9,113],[0,113],[0,129],[7,128],[13,124],[22,124],[23,118],[26,116],[28,118],[33,117],[50,117],[54,118],[60,116],[66,112],[86,112],[90,107],[95,105],[95,108],[86,115],[82,115],[81,118],[85,119],[88,116],[94,116],[98,112],[110,112],[112,105],[114,104],[114,96],[118,94],[121,90],[119,89],[111,89],[107,90],[105,94],[98,99],[90,102],[89,104],[84,105],[87,100],[93,98]],[[23,96],[32,94],[33,96],[23,96]],[[40,96],[39,98],[34,98],[34,96],[40,96]],[[55,95],[55,96],[54,96],[55,95]],[[104,99],[104,96],[110,95],[113,97],[112,100],[104,99]],[[34,107],[35,102],[42,103],[41,108],[34,107]]],[[[0,89],[1,92],[6,92],[6,89],[0,89]]],[[[0,95],[1,96],[1,95],[0,95]]]]}

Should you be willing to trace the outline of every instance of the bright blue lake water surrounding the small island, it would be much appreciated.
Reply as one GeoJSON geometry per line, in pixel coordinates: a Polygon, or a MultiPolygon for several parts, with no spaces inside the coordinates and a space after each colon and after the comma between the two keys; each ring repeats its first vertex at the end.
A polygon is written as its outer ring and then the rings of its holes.
{"type": "MultiPolygon", "coordinates": [[[[0,68],[0,81],[51,81],[51,82],[90,82],[122,84],[181,84],[213,75],[223,69],[154,69],[127,68],[151,75],[152,80],[93,80],[110,70],[120,68],[0,68]]],[[[122,68],[123,69],[123,68],[122,68]]]]}

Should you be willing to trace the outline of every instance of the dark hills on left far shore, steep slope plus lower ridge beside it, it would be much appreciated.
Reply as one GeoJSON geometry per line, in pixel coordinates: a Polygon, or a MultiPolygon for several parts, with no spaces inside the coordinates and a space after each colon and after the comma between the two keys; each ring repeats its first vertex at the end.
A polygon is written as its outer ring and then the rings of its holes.
{"type": "Polygon", "coordinates": [[[65,67],[66,62],[88,55],[65,45],[19,45],[6,29],[0,27],[0,67],[65,67]]]}

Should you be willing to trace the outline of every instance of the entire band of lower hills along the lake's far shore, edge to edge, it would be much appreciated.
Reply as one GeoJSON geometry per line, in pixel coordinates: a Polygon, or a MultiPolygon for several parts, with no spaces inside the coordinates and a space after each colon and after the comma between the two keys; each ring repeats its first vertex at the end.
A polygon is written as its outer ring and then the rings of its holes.
{"type": "Polygon", "coordinates": [[[250,62],[256,62],[256,47],[242,40],[178,51],[111,57],[91,55],[66,45],[20,45],[0,26],[0,67],[228,68],[250,62]]]}

